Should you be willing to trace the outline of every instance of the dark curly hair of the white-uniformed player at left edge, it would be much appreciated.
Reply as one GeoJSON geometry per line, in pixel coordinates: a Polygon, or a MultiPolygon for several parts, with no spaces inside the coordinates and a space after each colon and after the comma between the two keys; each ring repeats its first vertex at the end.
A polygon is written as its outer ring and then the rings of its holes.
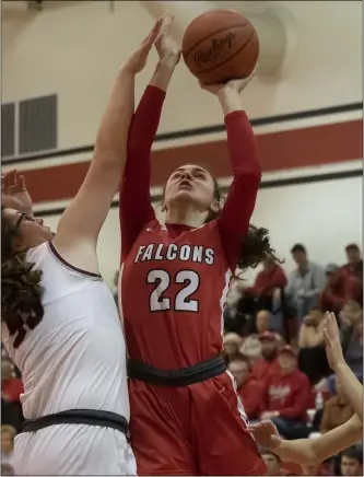
{"type": "Polygon", "coordinates": [[[34,270],[34,264],[25,261],[25,253],[13,248],[17,236],[14,226],[1,208],[1,322],[10,336],[15,336],[13,346],[23,341],[26,329],[34,329],[43,319],[42,270],[34,270]]]}

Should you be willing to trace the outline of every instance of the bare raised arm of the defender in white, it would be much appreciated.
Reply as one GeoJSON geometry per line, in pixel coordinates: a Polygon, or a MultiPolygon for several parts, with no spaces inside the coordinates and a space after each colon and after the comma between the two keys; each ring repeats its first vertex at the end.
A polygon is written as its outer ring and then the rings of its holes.
{"type": "Polygon", "coordinates": [[[89,271],[97,271],[97,237],[127,158],[127,137],[134,108],[134,75],[144,68],[160,26],[157,22],[119,70],[86,177],[58,224],[54,240],[57,251],[72,265],[89,271]]]}

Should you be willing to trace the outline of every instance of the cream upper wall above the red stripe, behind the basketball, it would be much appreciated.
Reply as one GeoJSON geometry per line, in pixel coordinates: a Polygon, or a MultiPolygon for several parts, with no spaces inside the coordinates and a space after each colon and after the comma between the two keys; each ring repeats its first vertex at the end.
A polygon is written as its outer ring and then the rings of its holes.
{"type": "MultiPolygon", "coordinates": [[[[232,3],[257,12],[278,4],[290,9],[297,21],[300,47],[292,72],[280,83],[258,79],[249,86],[244,101],[251,117],[362,98],[361,2],[232,3]]],[[[109,2],[70,2],[58,8],[48,5],[23,19],[4,19],[2,102],[57,93],[60,149],[94,141],[117,69],[152,26],[152,18],[138,1],[115,5],[111,13],[109,2]]],[[[155,60],[153,53],[138,78],[138,96],[155,60]]],[[[207,126],[221,119],[218,102],[199,90],[181,63],[168,92],[161,131],[207,126]]]]}

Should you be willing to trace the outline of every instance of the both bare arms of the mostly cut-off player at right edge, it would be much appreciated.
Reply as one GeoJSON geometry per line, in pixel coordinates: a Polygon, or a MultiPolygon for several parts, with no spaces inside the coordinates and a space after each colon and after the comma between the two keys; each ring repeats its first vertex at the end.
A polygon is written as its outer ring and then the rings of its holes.
{"type": "Polygon", "coordinates": [[[363,438],[363,385],[343,359],[338,323],[333,313],[326,314],[324,336],[328,362],[336,372],[355,415],[343,424],[316,439],[285,441],[280,438],[271,421],[262,421],[249,428],[259,444],[272,450],[282,461],[305,466],[320,464],[362,441],[363,438]]]}

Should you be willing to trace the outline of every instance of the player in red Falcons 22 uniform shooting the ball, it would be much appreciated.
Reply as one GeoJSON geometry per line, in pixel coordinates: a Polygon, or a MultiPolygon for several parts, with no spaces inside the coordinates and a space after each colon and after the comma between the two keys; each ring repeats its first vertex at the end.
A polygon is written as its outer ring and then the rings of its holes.
{"type": "Polygon", "coordinates": [[[249,225],[261,178],[239,97],[250,78],[201,85],[225,117],[234,179],[224,207],[216,181],[187,162],[167,181],[161,223],[150,197],[151,148],[179,61],[171,23],[167,18],[156,40],[160,60],[131,123],[120,186],[131,444],[139,475],[262,475],[265,463],[221,357],[232,275],[273,253],[267,230],[249,225]]]}

